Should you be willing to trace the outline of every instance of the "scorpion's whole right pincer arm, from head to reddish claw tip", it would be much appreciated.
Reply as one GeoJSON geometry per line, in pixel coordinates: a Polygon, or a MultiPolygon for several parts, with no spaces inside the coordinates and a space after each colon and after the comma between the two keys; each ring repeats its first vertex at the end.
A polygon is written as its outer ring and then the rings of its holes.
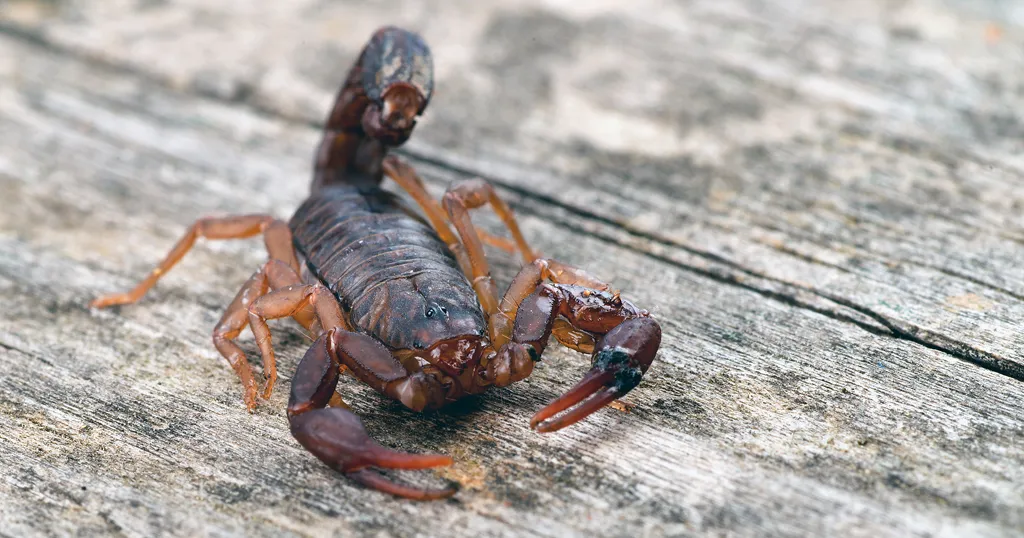
{"type": "Polygon", "coordinates": [[[525,357],[539,360],[558,320],[571,328],[559,335],[560,340],[577,333],[596,340],[592,368],[575,386],[534,416],[530,426],[539,431],[555,431],[578,422],[632,390],[662,342],[662,328],[648,313],[608,291],[607,285],[574,267],[537,260],[520,272],[499,312],[492,316],[492,341],[501,350],[486,376],[501,377],[504,369],[515,370],[525,357]]]}

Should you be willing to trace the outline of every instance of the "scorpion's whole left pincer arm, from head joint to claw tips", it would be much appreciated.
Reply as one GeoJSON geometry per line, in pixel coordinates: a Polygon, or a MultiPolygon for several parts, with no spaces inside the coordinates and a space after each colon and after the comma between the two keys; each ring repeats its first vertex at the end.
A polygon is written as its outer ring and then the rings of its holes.
{"type": "Polygon", "coordinates": [[[410,374],[377,340],[364,334],[332,329],[313,342],[292,378],[292,395],[288,403],[292,436],[328,466],[368,488],[417,500],[442,499],[454,495],[458,491],[456,487],[415,488],[391,482],[372,469],[424,469],[451,465],[452,458],[408,454],[385,448],[367,433],[362,421],[351,411],[341,407],[325,408],[336,395],[338,377],[345,365],[374,388],[397,397],[396,400],[401,400],[413,409],[438,406],[443,402],[436,379],[422,372],[410,374]],[[402,398],[413,392],[420,394],[420,397],[415,401],[402,398]]]}

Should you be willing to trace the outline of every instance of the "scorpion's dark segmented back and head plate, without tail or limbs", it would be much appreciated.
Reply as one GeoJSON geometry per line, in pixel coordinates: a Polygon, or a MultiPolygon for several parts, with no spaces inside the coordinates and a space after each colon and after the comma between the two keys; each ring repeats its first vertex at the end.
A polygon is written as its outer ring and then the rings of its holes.
{"type": "Polygon", "coordinates": [[[324,189],[302,204],[290,226],[310,272],[334,292],[352,324],[392,348],[485,327],[480,313],[467,320],[468,326],[426,330],[421,318],[430,304],[444,305],[445,312],[452,304],[479,306],[446,245],[395,195],[346,185],[324,189]]]}

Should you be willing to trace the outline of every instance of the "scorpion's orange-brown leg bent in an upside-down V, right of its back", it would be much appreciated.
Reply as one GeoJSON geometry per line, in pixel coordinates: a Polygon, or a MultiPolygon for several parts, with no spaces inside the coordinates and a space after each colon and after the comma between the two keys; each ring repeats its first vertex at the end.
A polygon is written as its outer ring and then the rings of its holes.
{"type": "Polygon", "coordinates": [[[483,245],[480,241],[481,235],[469,216],[470,209],[488,203],[498,217],[509,229],[509,232],[512,233],[512,238],[515,240],[523,259],[529,263],[537,256],[526,244],[522,232],[519,231],[519,224],[512,214],[512,209],[498,196],[490,183],[483,179],[471,179],[450,189],[444,194],[444,210],[447,211],[452,223],[459,232],[469,257],[471,272],[469,277],[473,283],[473,289],[476,291],[483,312],[487,316],[492,316],[498,312],[498,289],[490,278],[490,267],[487,264],[487,258],[483,253],[483,245]]]}

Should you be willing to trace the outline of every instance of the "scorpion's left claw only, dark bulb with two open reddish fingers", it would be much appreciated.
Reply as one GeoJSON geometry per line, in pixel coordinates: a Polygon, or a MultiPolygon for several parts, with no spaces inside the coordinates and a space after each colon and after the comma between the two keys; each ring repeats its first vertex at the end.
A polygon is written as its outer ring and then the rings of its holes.
{"type": "Polygon", "coordinates": [[[291,417],[292,434],[321,461],[364,486],[411,499],[439,499],[456,488],[419,489],[388,481],[367,467],[426,469],[452,464],[450,456],[409,454],[385,448],[370,438],[362,421],[343,408],[314,409],[291,417]]]}

